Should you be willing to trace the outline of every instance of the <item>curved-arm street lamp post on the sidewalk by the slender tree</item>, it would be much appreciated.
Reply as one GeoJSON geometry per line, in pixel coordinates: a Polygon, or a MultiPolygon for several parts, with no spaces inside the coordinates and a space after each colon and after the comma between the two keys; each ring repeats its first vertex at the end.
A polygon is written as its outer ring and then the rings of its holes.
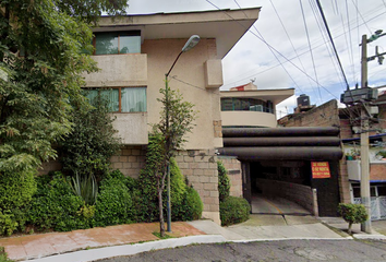
{"type": "MultiPolygon", "coordinates": [[[[165,151],[166,153],[169,152],[170,148],[169,147],[169,143],[168,140],[170,139],[168,132],[169,132],[169,98],[168,98],[168,76],[171,72],[171,70],[173,69],[174,64],[177,63],[177,60],[180,58],[180,56],[183,52],[186,52],[189,50],[191,50],[193,47],[195,47],[200,41],[200,36],[197,35],[192,35],[186,44],[182,47],[180,53],[177,56],[173,64],[171,64],[171,68],[169,69],[169,71],[165,74],[165,98],[166,98],[166,108],[165,108],[165,115],[166,115],[166,138],[165,138],[165,151]]],[[[167,195],[168,195],[168,202],[167,202],[167,211],[168,211],[168,228],[167,231],[171,231],[171,206],[170,206],[170,163],[169,160],[167,162],[167,166],[166,166],[166,171],[167,171],[167,195]]]]}

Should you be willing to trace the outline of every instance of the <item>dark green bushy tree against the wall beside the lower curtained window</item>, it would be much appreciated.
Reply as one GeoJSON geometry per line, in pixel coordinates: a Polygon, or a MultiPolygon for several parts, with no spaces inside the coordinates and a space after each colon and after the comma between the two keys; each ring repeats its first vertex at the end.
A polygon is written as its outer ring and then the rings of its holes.
{"type": "Polygon", "coordinates": [[[121,148],[121,141],[114,135],[108,99],[97,95],[89,104],[93,107],[73,110],[73,130],[61,142],[60,153],[69,175],[93,174],[99,181],[109,171],[110,158],[121,148]]]}

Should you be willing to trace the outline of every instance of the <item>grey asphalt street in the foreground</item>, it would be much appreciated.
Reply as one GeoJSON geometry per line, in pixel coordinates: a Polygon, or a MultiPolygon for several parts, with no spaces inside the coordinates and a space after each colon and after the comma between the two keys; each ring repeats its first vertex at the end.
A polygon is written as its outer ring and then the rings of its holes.
{"type": "Polygon", "coordinates": [[[98,262],[136,261],[386,261],[386,242],[379,240],[282,240],[194,245],[98,260],[98,262]]]}

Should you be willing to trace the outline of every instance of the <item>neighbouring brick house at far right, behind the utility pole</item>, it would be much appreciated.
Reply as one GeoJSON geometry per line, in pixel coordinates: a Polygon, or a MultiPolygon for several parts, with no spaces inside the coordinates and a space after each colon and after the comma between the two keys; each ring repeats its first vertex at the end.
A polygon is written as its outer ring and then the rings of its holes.
{"type": "MultiPolygon", "coordinates": [[[[370,132],[370,181],[372,196],[372,219],[386,218],[386,160],[377,156],[386,150],[386,94],[375,102],[378,114],[371,120],[370,132]]],[[[338,108],[336,100],[330,100],[304,114],[293,114],[279,119],[284,127],[337,127],[340,130],[342,151],[346,155],[339,160],[338,184],[339,201],[360,202],[360,108],[338,108]]],[[[329,188],[334,194],[336,188],[329,188]]]]}

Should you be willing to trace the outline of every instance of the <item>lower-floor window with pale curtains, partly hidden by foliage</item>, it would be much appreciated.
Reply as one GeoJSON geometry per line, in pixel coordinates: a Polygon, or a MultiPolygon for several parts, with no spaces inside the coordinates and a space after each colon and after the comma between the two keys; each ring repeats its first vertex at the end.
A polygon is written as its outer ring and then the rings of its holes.
{"type": "Polygon", "coordinates": [[[109,100],[112,112],[144,112],[147,110],[146,87],[85,88],[86,97],[94,99],[98,94],[109,100]]]}

